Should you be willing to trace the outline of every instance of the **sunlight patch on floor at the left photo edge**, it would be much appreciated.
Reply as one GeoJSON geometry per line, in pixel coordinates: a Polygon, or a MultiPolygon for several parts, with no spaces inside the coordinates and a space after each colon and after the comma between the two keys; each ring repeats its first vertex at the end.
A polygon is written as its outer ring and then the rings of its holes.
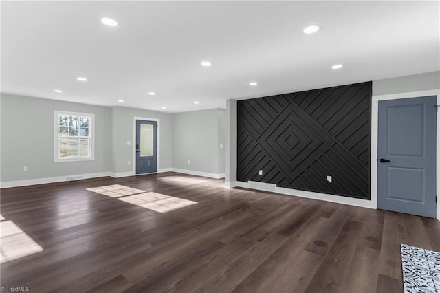
{"type": "MultiPolygon", "coordinates": [[[[2,217],[2,219],[4,218],[2,217]]],[[[0,263],[43,251],[43,248],[38,243],[12,221],[1,221],[0,230],[0,263]]]]}

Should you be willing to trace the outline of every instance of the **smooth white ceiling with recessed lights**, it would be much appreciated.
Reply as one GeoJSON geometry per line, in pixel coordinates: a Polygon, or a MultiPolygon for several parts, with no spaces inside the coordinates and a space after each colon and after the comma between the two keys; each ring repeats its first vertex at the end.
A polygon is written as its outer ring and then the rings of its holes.
{"type": "Polygon", "coordinates": [[[2,1],[1,91],[224,108],[228,98],[437,71],[439,39],[439,1],[2,1]],[[321,30],[304,34],[310,24],[321,30]]]}

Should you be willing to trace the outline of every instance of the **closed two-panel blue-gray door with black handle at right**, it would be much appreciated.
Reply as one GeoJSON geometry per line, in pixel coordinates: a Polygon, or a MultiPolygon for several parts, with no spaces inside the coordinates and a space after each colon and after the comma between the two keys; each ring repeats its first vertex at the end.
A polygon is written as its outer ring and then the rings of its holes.
{"type": "Polygon", "coordinates": [[[379,102],[377,207],[435,217],[436,97],[379,102]]]}

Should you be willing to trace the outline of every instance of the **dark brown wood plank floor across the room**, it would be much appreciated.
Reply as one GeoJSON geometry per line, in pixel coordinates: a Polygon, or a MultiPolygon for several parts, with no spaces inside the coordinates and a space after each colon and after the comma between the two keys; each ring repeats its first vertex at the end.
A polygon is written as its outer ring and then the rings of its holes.
{"type": "Polygon", "coordinates": [[[403,292],[400,243],[440,251],[435,219],[178,173],[3,189],[0,213],[44,249],[1,265],[1,286],[31,292],[403,292]],[[85,190],[109,184],[197,204],[85,190]]]}

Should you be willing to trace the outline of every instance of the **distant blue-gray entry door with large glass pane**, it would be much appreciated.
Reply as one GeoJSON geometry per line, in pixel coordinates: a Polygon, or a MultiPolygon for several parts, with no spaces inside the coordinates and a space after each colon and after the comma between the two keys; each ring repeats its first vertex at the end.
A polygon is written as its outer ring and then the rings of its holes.
{"type": "Polygon", "coordinates": [[[136,174],[157,172],[157,122],[136,120],[136,174]]]}

